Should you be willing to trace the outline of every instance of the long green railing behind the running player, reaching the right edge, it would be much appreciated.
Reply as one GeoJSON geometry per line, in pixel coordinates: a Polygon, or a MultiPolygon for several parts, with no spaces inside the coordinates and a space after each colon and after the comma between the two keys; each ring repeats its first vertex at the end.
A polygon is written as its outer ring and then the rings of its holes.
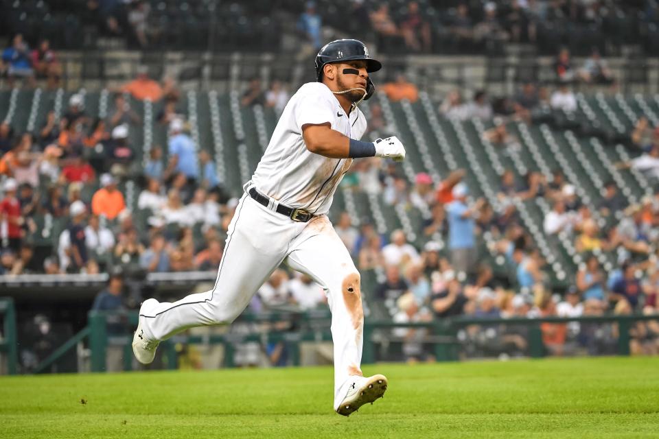
{"type": "MultiPolygon", "coordinates": [[[[329,321],[331,315],[329,311],[310,311],[305,313],[290,312],[290,313],[264,313],[264,314],[246,314],[241,316],[240,321],[250,322],[278,322],[290,319],[297,319],[299,322],[322,322],[323,320],[329,321]]],[[[580,324],[617,324],[618,325],[618,339],[617,339],[617,355],[629,355],[629,342],[631,336],[629,329],[634,322],[642,322],[648,320],[659,320],[656,315],[629,315],[629,316],[582,316],[579,318],[470,318],[470,317],[456,317],[435,320],[432,322],[410,322],[410,323],[395,323],[391,321],[367,321],[364,327],[364,348],[362,353],[362,362],[364,364],[372,364],[376,360],[376,344],[382,341],[380,337],[375,334],[377,331],[390,331],[395,328],[417,328],[427,329],[430,333],[424,342],[434,346],[434,354],[437,361],[458,361],[460,359],[460,347],[458,332],[461,329],[476,326],[488,325],[516,325],[528,327],[529,343],[529,356],[532,358],[540,358],[546,355],[546,348],[542,340],[542,330],[540,325],[543,323],[551,324],[568,324],[570,322],[579,322],[580,324]]],[[[108,313],[96,312],[89,313],[89,336],[91,348],[91,370],[93,372],[101,372],[106,367],[106,348],[108,337],[106,325],[108,322],[124,322],[135,327],[137,325],[137,313],[108,313]]],[[[332,335],[329,333],[329,324],[326,324],[323,329],[316,327],[316,329],[302,330],[294,332],[260,332],[250,334],[235,334],[227,333],[222,335],[176,335],[167,342],[163,342],[162,350],[165,355],[165,366],[170,369],[177,368],[177,352],[175,346],[178,344],[222,344],[224,346],[224,367],[233,367],[233,353],[235,344],[245,342],[259,342],[259,343],[276,343],[287,342],[291,349],[292,364],[299,365],[299,344],[301,342],[328,342],[332,340],[332,335]]],[[[386,337],[386,335],[384,336],[386,337]]],[[[399,339],[396,339],[399,341],[399,339]]],[[[132,335],[125,335],[122,337],[113,337],[115,344],[124,346],[124,369],[130,370],[132,368],[132,335]]]]}

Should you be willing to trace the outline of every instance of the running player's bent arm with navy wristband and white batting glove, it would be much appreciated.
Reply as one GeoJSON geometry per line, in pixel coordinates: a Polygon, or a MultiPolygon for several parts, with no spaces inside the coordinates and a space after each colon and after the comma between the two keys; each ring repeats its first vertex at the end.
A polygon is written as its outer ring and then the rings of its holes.
{"type": "Polygon", "coordinates": [[[405,158],[405,148],[397,137],[362,142],[332,130],[329,122],[306,123],[302,126],[302,137],[307,150],[330,158],[386,157],[395,161],[405,158]]]}

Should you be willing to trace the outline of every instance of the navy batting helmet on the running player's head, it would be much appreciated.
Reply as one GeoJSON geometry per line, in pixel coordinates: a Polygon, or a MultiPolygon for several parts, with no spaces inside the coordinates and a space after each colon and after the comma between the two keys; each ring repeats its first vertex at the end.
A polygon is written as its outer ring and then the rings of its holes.
{"type": "MultiPolygon", "coordinates": [[[[316,55],[316,81],[321,82],[323,80],[323,67],[325,64],[351,60],[365,60],[366,71],[369,73],[382,69],[382,63],[371,58],[369,49],[360,40],[334,40],[324,45],[316,55]]],[[[365,99],[369,99],[375,93],[375,85],[370,76],[367,80],[366,91],[365,99]]]]}

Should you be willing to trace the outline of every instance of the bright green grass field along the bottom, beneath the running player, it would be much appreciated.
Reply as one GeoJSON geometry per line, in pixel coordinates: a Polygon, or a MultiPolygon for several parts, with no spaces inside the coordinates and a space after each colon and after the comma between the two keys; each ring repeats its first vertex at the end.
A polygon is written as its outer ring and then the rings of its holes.
{"type": "Polygon", "coordinates": [[[0,437],[659,437],[659,358],[363,370],[389,390],[349,418],[326,367],[3,377],[0,437]]]}

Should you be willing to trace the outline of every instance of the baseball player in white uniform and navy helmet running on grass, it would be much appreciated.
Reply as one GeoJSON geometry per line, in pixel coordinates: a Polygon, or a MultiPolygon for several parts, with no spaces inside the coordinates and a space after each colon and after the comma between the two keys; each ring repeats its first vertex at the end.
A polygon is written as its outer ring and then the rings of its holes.
{"type": "Polygon", "coordinates": [[[405,158],[396,137],[359,141],[366,130],[357,108],[382,64],[358,40],[336,40],[316,56],[316,82],[299,88],[244,185],[213,289],[178,302],[148,299],[139,310],[135,357],[153,361],[159,342],[187,328],[230,324],[279,266],[311,276],[327,294],[334,340],[334,410],[348,416],[383,396],[386,377],[363,377],[364,313],[360,276],[327,211],[354,158],[405,158]]]}

